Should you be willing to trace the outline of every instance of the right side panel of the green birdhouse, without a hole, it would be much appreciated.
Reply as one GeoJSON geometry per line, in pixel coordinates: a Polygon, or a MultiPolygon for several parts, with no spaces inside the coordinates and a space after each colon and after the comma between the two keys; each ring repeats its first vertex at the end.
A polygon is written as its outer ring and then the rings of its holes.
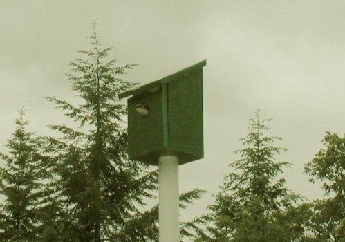
{"type": "Polygon", "coordinates": [[[169,148],[189,162],[203,158],[203,68],[168,86],[169,148]]]}

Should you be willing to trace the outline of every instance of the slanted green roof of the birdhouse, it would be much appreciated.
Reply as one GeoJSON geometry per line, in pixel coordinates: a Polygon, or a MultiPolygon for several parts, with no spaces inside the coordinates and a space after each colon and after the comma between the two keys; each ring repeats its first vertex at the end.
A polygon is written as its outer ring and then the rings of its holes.
{"type": "Polygon", "coordinates": [[[203,60],[202,62],[199,62],[197,64],[194,64],[193,66],[189,66],[181,71],[178,71],[174,74],[168,75],[167,77],[164,77],[160,80],[156,80],[154,82],[150,82],[149,84],[143,85],[143,86],[139,86],[136,87],[134,89],[129,89],[127,91],[124,91],[123,93],[120,93],[118,95],[118,97],[120,99],[124,98],[124,97],[129,97],[131,95],[139,95],[142,93],[150,93],[150,92],[155,92],[158,89],[160,89],[160,87],[163,84],[167,84],[168,82],[171,82],[173,80],[176,80],[180,77],[183,77],[185,74],[195,71],[198,68],[201,68],[203,66],[206,66],[206,60],[203,60]]]}

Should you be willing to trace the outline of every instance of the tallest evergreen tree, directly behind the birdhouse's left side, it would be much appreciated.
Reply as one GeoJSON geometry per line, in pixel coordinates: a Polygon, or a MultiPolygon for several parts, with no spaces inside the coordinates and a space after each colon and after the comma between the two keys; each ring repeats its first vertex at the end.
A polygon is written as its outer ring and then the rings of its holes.
{"type": "MultiPolygon", "coordinates": [[[[59,229],[66,241],[157,241],[158,207],[142,212],[143,199],[154,198],[157,171],[127,158],[127,133],[123,118],[126,108],[118,94],[134,84],[121,75],[134,64],[115,66],[109,59],[111,48],[103,48],[97,39],[95,23],[91,50],[81,50],[84,57],[73,59],[71,89],[80,98],[79,105],[49,97],[58,109],[77,124],[52,125],[61,138],[46,138],[53,151],[55,194],[62,210],[59,229]]],[[[196,189],[183,196],[189,203],[198,198],[196,189]]]]}

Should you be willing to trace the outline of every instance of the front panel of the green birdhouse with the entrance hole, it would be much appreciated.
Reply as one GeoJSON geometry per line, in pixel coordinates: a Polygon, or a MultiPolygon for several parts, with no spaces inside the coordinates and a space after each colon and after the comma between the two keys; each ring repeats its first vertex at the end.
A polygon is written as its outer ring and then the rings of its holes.
{"type": "Polygon", "coordinates": [[[136,95],[128,100],[128,136],[132,160],[147,162],[150,153],[163,149],[162,92],[136,95]],[[148,112],[139,113],[138,106],[148,112]]]}

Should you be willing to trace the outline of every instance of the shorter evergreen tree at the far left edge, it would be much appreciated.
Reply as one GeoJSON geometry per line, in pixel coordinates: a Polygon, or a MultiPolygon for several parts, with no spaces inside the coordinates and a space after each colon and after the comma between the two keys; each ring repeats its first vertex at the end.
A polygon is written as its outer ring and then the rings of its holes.
{"type": "Polygon", "coordinates": [[[37,139],[26,131],[28,121],[24,120],[23,110],[15,124],[16,129],[7,144],[8,154],[0,153],[0,158],[5,163],[0,168],[0,194],[5,196],[1,205],[0,240],[33,241],[39,223],[39,163],[43,156],[39,154],[37,139]]]}

